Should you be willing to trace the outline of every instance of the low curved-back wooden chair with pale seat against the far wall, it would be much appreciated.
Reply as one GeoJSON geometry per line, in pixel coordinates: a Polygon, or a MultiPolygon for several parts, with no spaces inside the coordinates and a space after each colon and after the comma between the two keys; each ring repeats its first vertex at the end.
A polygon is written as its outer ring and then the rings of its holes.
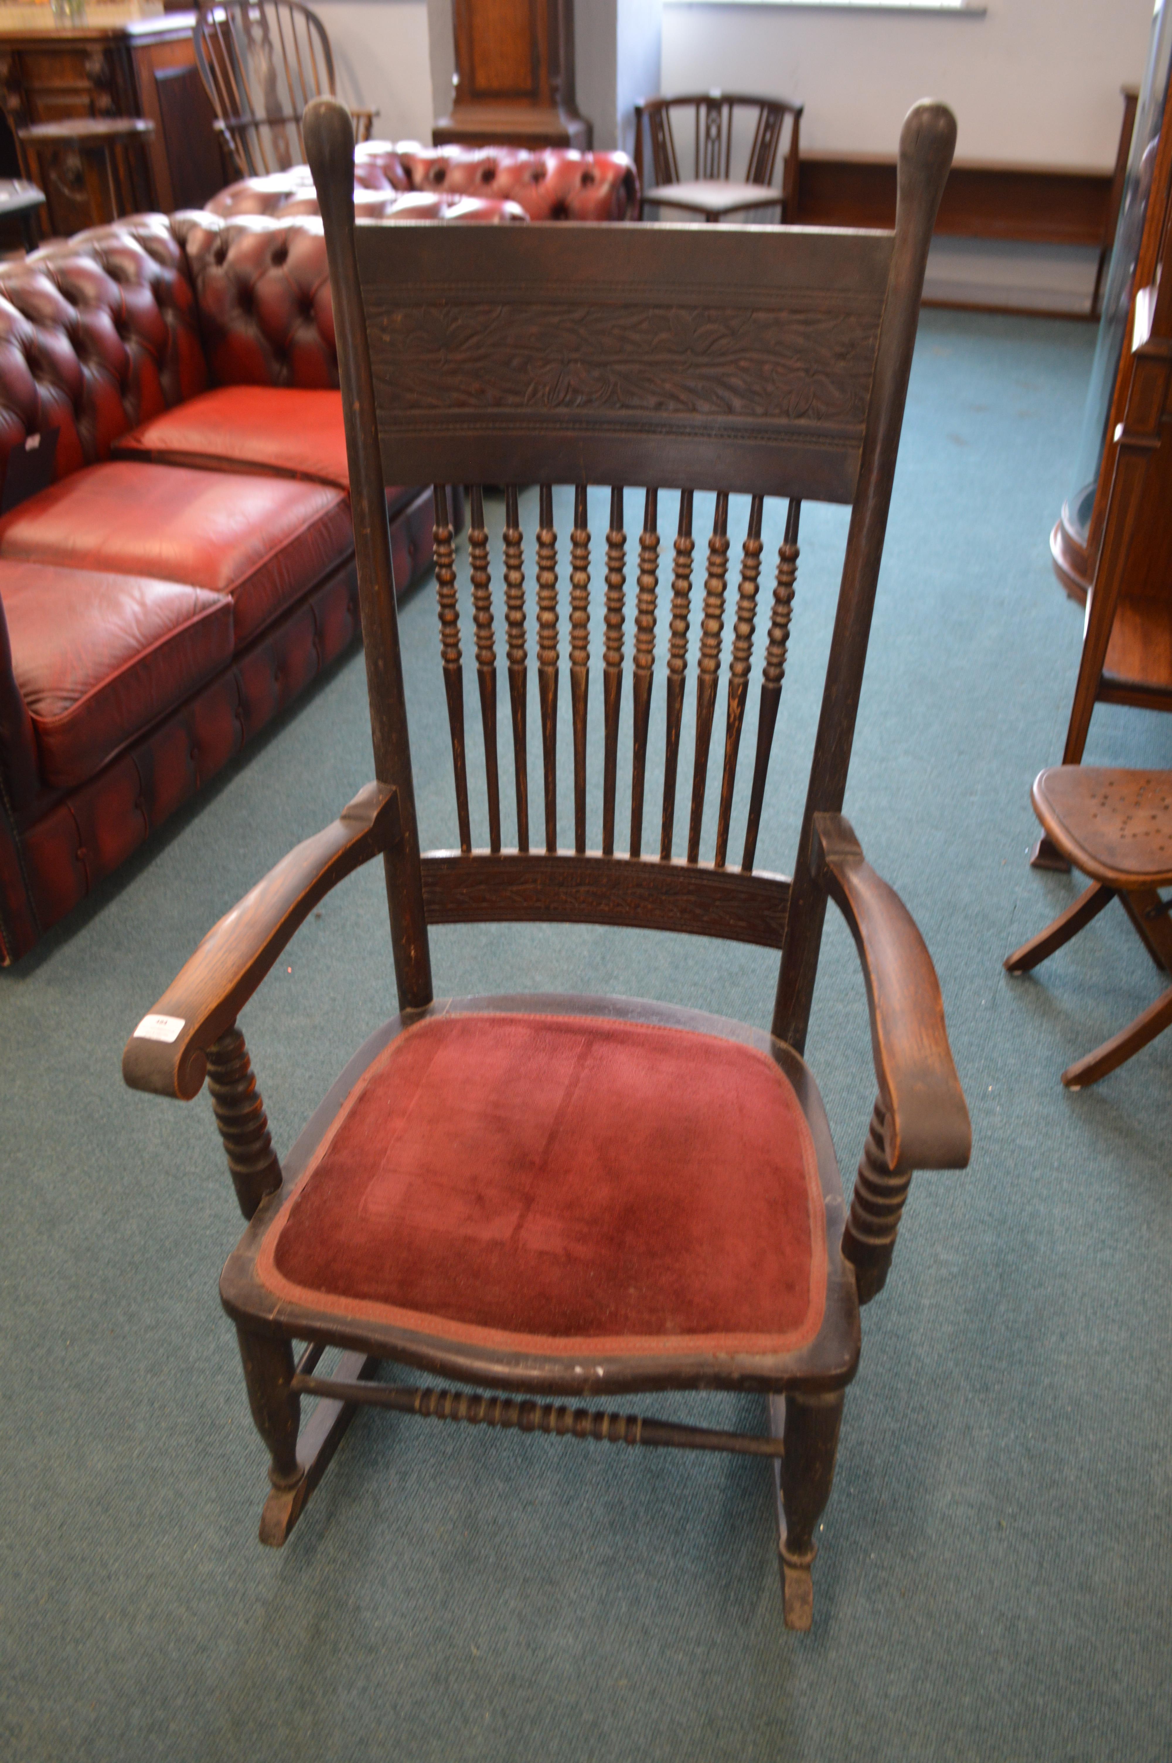
{"type": "Polygon", "coordinates": [[[684,208],[721,220],[754,208],[781,208],[783,222],[798,212],[802,104],[754,99],[733,92],[689,92],[673,99],[643,99],[634,106],[634,169],[645,203],[684,208]],[[675,132],[691,113],[693,164],[680,171],[675,132]],[[675,127],[671,118],[675,116],[675,127]],[[790,118],[790,145],[781,189],[774,187],[777,150],[790,118]],[[643,120],[650,141],[650,185],[643,178],[643,120]],[[742,178],[733,176],[733,136],[753,129],[742,178]]]}

